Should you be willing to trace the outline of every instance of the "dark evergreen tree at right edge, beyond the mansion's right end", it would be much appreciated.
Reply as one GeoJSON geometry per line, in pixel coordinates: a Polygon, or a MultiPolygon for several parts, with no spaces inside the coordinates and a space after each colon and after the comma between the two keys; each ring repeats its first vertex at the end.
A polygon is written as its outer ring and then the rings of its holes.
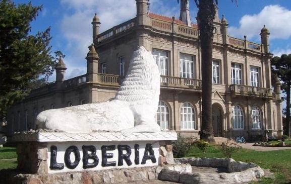
{"type": "Polygon", "coordinates": [[[290,136],[290,88],[291,88],[291,54],[283,54],[281,57],[271,59],[272,72],[277,74],[282,81],[282,89],[286,94],[286,118],[283,134],[290,136]]]}

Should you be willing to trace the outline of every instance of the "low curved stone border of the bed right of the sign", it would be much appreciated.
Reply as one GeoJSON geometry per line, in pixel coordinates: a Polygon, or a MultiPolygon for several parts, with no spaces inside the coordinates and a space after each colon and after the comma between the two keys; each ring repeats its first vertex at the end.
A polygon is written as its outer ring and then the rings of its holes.
{"type": "Polygon", "coordinates": [[[228,173],[189,173],[164,168],[159,173],[158,179],[189,184],[249,183],[265,175],[260,166],[254,163],[237,162],[231,158],[177,158],[175,160],[192,166],[225,167],[228,173]]]}

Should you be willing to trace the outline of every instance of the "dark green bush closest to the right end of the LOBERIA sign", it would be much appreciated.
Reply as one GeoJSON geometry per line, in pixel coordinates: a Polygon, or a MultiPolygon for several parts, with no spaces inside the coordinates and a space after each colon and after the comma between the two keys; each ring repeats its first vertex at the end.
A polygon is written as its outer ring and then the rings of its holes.
{"type": "Polygon", "coordinates": [[[184,137],[178,136],[177,141],[173,144],[173,156],[176,158],[186,157],[189,153],[190,144],[184,137]]]}

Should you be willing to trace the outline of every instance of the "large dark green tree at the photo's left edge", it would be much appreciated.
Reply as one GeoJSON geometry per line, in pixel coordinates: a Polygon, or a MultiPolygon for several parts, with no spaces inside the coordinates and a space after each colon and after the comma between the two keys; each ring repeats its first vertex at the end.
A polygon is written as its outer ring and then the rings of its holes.
{"type": "Polygon", "coordinates": [[[30,22],[41,8],[0,2],[0,118],[29,94],[31,83],[40,76],[47,81],[53,73],[56,60],[50,55],[50,28],[29,35],[30,22]]]}

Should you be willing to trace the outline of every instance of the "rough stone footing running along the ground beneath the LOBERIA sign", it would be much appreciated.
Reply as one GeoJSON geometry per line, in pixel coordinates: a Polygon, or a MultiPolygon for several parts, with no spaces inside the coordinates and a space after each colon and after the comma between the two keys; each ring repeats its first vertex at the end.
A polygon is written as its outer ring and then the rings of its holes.
{"type": "Polygon", "coordinates": [[[176,172],[191,172],[189,164],[173,164],[164,166],[151,166],[143,168],[108,169],[103,171],[66,172],[55,174],[20,174],[8,169],[0,172],[1,182],[13,184],[36,183],[82,183],[105,184],[150,181],[158,178],[162,169],[176,172]]]}

